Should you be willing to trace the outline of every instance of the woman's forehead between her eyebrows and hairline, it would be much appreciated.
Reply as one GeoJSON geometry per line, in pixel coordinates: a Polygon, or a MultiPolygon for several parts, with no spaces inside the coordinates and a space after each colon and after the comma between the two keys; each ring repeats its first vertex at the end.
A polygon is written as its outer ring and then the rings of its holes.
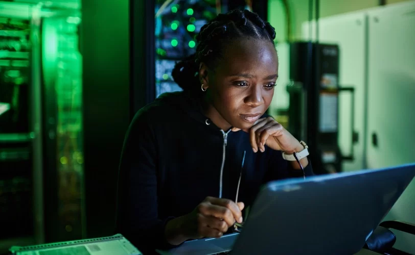
{"type": "Polygon", "coordinates": [[[250,73],[267,76],[278,72],[273,43],[264,40],[236,40],[223,48],[216,72],[223,75],[250,73]]]}

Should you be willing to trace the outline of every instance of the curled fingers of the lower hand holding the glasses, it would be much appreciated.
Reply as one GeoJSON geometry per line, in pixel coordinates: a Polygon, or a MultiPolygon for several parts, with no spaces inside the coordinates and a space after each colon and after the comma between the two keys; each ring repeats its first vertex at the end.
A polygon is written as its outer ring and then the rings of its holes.
{"type": "MultiPolygon", "coordinates": [[[[232,226],[235,223],[235,220],[242,222],[242,212],[234,201],[215,197],[207,197],[206,201],[210,203],[210,206],[205,205],[206,207],[200,208],[201,210],[205,210],[205,215],[223,219],[228,226],[232,226]]],[[[200,205],[204,205],[204,203],[201,203],[200,205]]]]}

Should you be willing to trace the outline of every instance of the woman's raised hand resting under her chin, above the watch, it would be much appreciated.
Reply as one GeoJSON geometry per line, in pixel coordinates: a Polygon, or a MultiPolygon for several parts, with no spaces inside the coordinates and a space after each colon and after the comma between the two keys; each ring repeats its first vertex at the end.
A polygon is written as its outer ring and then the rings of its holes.
{"type": "MultiPolygon", "coordinates": [[[[236,127],[232,129],[234,132],[239,130],[236,127]]],[[[304,149],[304,146],[272,117],[259,119],[249,130],[244,131],[250,134],[253,152],[264,152],[265,144],[271,149],[282,150],[287,154],[304,149]]]]}

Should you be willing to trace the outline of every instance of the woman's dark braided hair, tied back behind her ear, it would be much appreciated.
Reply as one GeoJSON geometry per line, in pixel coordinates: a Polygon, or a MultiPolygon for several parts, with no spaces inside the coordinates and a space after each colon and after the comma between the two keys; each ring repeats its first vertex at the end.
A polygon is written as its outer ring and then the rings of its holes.
{"type": "Polygon", "coordinates": [[[258,14],[248,10],[233,10],[219,14],[203,25],[196,37],[196,53],[176,63],[172,71],[174,81],[183,90],[200,90],[199,65],[212,68],[222,56],[223,45],[232,39],[248,37],[273,43],[275,29],[258,14]]]}

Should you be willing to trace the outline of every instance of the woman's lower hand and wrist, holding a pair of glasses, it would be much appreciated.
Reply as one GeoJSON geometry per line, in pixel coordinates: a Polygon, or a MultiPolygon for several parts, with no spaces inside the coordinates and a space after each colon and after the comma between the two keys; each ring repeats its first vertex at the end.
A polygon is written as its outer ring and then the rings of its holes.
{"type": "Polygon", "coordinates": [[[190,214],[168,222],[166,238],[170,244],[178,245],[188,239],[221,237],[235,221],[242,222],[243,208],[243,202],[206,197],[190,214]],[[172,231],[174,228],[176,231],[172,231]],[[174,232],[176,235],[170,234],[174,232]]]}

